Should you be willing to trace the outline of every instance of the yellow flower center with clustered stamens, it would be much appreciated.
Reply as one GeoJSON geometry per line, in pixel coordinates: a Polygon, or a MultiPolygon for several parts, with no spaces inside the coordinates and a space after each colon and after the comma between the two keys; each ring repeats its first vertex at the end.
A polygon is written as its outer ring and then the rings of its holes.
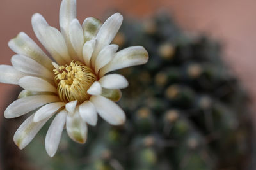
{"type": "Polygon", "coordinates": [[[61,101],[69,102],[77,100],[83,103],[90,98],[87,90],[97,81],[97,76],[90,67],[84,66],[79,61],[70,62],[69,66],[58,66],[54,63],[54,81],[58,85],[58,93],[61,101]]]}

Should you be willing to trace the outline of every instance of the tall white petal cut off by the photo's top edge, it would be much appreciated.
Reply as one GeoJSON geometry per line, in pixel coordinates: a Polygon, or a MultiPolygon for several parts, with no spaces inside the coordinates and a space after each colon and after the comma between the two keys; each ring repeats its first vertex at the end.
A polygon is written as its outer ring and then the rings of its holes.
{"type": "Polygon", "coordinates": [[[60,29],[63,34],[68,52],[72,59],[76,59],[76,52],[72,46],[69,36],[69,26],[72,20],[76,19],[76,0],[63,0],[60,6],[60,29]]]}

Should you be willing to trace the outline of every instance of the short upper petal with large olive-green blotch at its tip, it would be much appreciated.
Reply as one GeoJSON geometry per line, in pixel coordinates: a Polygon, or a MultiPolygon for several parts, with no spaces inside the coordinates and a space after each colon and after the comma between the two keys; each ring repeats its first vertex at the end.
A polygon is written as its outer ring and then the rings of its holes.
{"type": "Polygon", "coordinates": [[[83,31],[84,31],[84,42],[95,39],[99,29],[102,25],[102,22],[97,18],[88,17],[83,22],[83,31]]]}

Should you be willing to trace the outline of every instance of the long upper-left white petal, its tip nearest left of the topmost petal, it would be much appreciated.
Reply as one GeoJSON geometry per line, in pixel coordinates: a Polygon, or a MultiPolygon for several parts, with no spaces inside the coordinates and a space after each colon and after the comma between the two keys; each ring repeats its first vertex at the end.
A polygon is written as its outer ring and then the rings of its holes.
{"type": "MultiPolygon", "coordinates": [[[[60,54],[58,54],[54,50],[54,48],[52,48],[52,46],[49,42],[49,36],[47,36],[47,34],[46,34],[46,29],[49,25],[46,22],[46,20],[44,19],[44,17],[42,15],[40,15],[39,13],[35,13],[32,17],[32,26],[33,26],[33,30],[36,34],[36,37],[38,38],[40,43],[42,43],[42,45],[44,45],[44,47],[51,54],[51,56],[54,58],[54,60],[56,60],[56,62],[58,62],[58,64],[61,64],[61,65],[65,64],[65,60],[63,60],[62,57],[60,56],[60,54]]],[[[50,39],[50,41],[51,41],[51,39],[50,39]]]]}

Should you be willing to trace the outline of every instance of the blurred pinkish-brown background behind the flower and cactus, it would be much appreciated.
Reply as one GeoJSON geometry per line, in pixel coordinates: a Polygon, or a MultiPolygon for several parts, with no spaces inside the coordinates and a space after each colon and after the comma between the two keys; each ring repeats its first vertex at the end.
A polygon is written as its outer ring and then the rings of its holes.
{"type": "MultiPolygon", "coordinates": [[[[33,13],[41,13],[49,25],[58,26],[61,0],[1,0],[0,6],[0,64],[10,64],[14,54],[8,41],[20,31],[26,32],[38,43],[31,27],[33,13]]],[[[253,120],[256,118],[256,2],[253,0],[77,0],[77,18],[86,17],[105,20],[111,11],[119,11],[126,18],[146,20],[159,11],[166,11],[187,34],[206,34],[223,45],[223,60],[231,68],[250,97],[253,120]]],[[[38,43],[39,44],[39,43],[38,43]]],[[[0,85],[0,110],[10,103],[15,85],[0,85]]],[[[0,117],[0,124],[3,121],[0,117]]],[[[0,161],[1,163],[1,161],[0,161]]]]}

